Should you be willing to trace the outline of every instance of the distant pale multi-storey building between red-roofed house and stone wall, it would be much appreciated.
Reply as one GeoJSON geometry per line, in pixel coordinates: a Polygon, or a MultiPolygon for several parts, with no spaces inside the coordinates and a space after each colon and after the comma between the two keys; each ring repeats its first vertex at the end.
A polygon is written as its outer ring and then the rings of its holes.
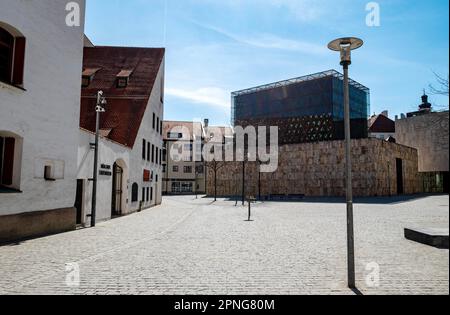
{"type": "Polygon", "coordinates": [[[201,122],[164,121],[163,137],[163,193],[204,194],[206,173],[201,155],[205,142],[204,125],[201,122]]]}

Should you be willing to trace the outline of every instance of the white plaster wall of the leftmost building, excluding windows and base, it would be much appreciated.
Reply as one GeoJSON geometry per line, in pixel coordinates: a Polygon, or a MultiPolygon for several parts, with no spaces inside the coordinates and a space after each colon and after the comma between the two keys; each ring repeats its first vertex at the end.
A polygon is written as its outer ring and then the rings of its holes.
{"type": "Polygon", "coordinates": [[[2,0],[0,22],[26,37],[25,91],[0,83],[0,132],[23,138],[20,190],[0,194],[0,215],[73,207],[77,173],[85,0],[68,27],[66,0],[2,0]],[[63,178],[37,178],[39,160],[63,162],[63,178]]]}

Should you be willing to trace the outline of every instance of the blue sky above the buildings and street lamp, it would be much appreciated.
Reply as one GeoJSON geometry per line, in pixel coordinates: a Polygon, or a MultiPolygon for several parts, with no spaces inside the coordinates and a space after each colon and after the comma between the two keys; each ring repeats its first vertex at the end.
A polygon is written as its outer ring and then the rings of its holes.
{"type": "MultiPolygon", "coordinates": [[[[96,45],[166,47],[165,119],[229,124],[230,94],[323,70],[327,50],[357,36],[350,76],[371,89],[371,112],[413,111],[434,72],[449,68],[449,1],[384,0],[381,25],[366,25],[360,0],[87,0],[96,45]]],[[[430,96],[436,109],[448,97],[430,96]]]]}

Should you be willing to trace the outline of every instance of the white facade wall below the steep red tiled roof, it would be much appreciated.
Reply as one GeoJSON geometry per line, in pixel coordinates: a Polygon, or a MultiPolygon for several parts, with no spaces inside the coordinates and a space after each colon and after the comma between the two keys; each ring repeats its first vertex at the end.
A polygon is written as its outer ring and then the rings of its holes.
{"type": "MultiPolygon", "coordinates": [[[[152,144],[162,149],[162,136],[153,130],[153,112],[160,120],[163,120],[164,105],[161,104],[161,80],[164,80],[164,63],[162,64],[154,88],[147,105],[147,110],[144,114],[141,127],[133,149],[126,146],[114,143],[110,140],[100,138],[99,144],[99,167],[101,164],[107,164],[112,166],[118,160],[123,161],[126,165],[124,170],[124,185],[123,196],[124,203],[122,203],[122,214],[129,214],[139,209],[142,187],[153,187],[153,200],[151,202],[145,202],[143,209],[161,204],[162,202],[162,166],[156,163],[147,162],[142,159],[142,140],[150,141],[152,144]],[[158,182],[144,183],[143,174],[144,169],[153,171],[155,175],[158,175],[158,182]],[[138,201],[131,202],[131,188],[133,183],[137,183],[138,189],[138,201]]],[[[106,96],[107,97],[107,96],[106,96]]],[[[89,219],[86,218],[87,214],[91,213],[91,198],[92,198],[92,182],[88,179],[93,177],[93,161],[94,150],[90,149],[89,144],[94,142],[93,133],[80,130],[79,131],[79,147],[78,147],[78,179],[84,179],[85,194],[84,194],[84,222],[89,223],[89,219]]],[[[111,200],[112,200],[112,176],[99,176],[97,186],[97,221],[104,221],[111,218],[111,200]]]]}

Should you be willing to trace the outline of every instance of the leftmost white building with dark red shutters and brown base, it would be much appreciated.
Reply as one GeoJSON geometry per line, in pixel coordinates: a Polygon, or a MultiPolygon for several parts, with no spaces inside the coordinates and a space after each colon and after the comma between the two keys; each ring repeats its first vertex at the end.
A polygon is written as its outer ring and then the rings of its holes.
{"type": "Polygon", "coordinates": [[[0,242],[75,228],[85,1],[0,1],[0,242]]]}

